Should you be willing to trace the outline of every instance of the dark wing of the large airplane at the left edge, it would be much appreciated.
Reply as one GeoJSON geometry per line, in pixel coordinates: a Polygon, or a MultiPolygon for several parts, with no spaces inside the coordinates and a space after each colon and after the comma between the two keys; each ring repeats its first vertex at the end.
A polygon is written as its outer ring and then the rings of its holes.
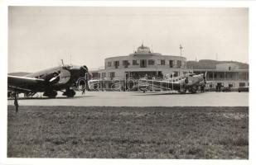
{"type": "Polygon", "coordinates": [[[46,81],[41,78],[27,78],[8,75],[8,89],[15,92],[33,92],[36,88],[44,87],[46,81]]]}

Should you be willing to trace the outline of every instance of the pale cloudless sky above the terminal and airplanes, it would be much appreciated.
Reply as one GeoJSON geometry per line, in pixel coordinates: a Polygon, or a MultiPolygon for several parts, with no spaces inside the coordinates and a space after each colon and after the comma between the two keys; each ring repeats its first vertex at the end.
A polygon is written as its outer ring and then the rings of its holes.
{"type": "Polygon", "coordinates": [[[142,43],[168,55],[180,55],[181,44],[187,60],[249,63],[248,8],[9,7],[8,73],[51,68],[60,59],[99,68],[142,43]]]}

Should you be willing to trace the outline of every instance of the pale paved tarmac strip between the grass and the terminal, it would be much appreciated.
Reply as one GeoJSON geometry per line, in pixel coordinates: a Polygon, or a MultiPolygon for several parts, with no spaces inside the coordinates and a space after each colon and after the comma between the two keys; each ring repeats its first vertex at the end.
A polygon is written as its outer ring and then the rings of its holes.
{"type": "MultiPolygon", "coordinates": [[[[249,92],[76,92],[75,97],[19,97],[20,106],[249,106],[249,92]]],[[[13,99],[7,100],[13,105],[13,99]]]]}

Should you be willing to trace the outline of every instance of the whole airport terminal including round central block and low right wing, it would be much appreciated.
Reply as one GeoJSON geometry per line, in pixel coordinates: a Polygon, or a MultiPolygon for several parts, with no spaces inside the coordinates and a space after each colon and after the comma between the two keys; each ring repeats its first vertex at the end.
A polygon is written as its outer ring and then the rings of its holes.
{"type": "Polygon", "coordinates": [[[211,69],[188,68],[184,56],[154,53],[143,44],[133,54],[104,59],[104,68],[89,70],[93,79],[101,80],[100,88],[103,89],[110,88],[116,79],[124,82],[128,79],[138,80],[145,77],[162,79],[168,74],[176,77],[186,73],[205,72],[207,72],[206,80],[213,81],[207,86],[210,88],[215,88],[217,85],[232,88],[249,86],[249,69],[241,69],[238,64],[221,63],[211,69]]]}

